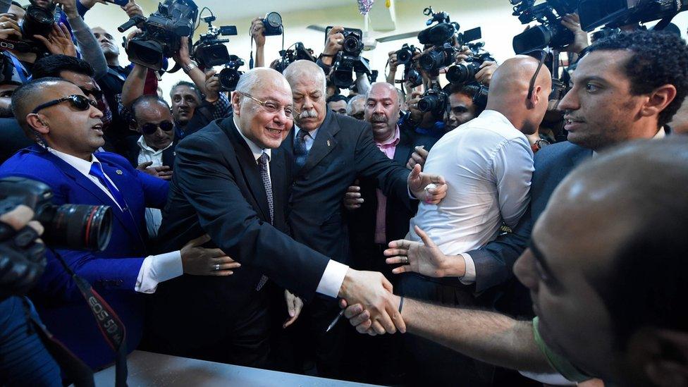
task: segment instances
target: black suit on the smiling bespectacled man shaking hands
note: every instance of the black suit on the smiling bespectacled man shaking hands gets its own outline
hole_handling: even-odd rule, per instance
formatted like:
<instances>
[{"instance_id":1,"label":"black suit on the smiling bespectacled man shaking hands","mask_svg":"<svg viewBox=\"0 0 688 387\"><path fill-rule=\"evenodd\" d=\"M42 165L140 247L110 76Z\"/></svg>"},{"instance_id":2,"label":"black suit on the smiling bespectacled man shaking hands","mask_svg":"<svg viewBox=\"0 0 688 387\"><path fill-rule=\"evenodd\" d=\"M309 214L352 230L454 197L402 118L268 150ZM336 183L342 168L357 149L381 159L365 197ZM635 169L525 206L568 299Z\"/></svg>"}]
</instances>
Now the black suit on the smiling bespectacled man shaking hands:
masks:
<instances>
[{"instance_id":1,"label":"black suit on the smiling bespectacled man shaking hands","mask_svg":"<svg viewBox=\"0 0 688 387\"><path fill-rule=\"evenodd\" d=\"M156 350L264 365L267 323L262 274L312 298L328 258L291 239L284 206L290 164L273 149L274 226L259 167L232 118L182 140L159 231L159 250L173 251L207 233L242 263L228 277L189 276L159 285L147 333Z\"/></svg>"}]
</instances>

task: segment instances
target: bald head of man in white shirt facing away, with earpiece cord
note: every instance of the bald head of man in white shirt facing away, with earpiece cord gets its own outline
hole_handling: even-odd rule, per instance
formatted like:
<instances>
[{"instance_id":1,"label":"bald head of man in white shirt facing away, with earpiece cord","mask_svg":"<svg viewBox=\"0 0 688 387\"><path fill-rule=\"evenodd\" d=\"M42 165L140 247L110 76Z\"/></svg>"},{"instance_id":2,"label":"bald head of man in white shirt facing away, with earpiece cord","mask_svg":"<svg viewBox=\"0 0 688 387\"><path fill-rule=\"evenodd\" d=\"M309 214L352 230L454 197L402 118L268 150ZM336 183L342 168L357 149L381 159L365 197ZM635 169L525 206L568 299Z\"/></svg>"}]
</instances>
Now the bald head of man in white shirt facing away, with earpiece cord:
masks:
<instances>
[{"instance_id":1,"label":"bald head of man in white shirt facing away, with earpiece cord","mask_svg":"<svg viewBox=\"0 0 688 387\"><path fill-rule=\"evenodd\" d=\"M515 56L502 63L490 82L486 109L502 113L522 133L536 132L547 112L552 91L551 73L542 66L528 97L530 80L539 61L531 56Z\"/></svg>"}]
</instances>

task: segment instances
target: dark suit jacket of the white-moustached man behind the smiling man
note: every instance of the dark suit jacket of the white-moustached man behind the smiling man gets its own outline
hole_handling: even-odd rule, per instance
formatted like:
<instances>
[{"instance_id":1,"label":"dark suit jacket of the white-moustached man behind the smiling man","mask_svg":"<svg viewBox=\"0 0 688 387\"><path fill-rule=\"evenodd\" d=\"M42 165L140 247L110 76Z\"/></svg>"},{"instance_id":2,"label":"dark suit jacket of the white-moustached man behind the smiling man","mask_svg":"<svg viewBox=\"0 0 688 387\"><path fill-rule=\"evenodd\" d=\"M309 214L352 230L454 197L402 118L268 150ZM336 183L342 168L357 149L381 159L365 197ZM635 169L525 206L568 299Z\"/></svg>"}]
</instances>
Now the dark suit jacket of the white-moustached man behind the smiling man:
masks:
<instances>
[{"instance_id":1,"label":"dark suit jacket of the white-moustached man behind the smiling man","mask_svg":"<svg viewBox=\"0 0 688 387\"><path fill-rule=\"evenodd\" d=\"M294 130L281 148L293 158ZM293 161L292 161L293 162ZM370 178L411 209L409 171L375 145L369 123L327 111L306 164L292 184L288 221L294 238L331 259L350 263L343 198L356 178Z\"/></svg>"}]
</instances>

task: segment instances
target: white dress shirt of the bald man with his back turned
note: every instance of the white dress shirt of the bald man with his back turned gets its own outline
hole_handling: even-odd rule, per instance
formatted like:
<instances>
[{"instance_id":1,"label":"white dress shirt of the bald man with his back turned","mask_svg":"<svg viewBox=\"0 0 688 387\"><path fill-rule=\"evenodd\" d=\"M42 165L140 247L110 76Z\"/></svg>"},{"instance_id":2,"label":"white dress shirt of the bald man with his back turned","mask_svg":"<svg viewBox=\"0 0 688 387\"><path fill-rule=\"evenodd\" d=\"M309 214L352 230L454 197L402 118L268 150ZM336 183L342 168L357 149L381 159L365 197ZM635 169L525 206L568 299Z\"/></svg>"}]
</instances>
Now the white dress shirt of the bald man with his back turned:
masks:
<instances>
[{"instance_id":1,"label":"white dress shirt of the bald man with his back turned","mask_svg":"<svg viewBox=\"0 0 688 387\"><path fill-rule=\"evenodd\" d=\"M432 147L424 172L446 179L447 196L439 204L419 204L407 239L420 241L413 229L419 226L444 254L462 254L461 281L473 283L475 264L465 252L495 239L502 222L516 226L529 204L533 171L526 136L503 114L484 111Z\"/></svg>"}]
</instances>

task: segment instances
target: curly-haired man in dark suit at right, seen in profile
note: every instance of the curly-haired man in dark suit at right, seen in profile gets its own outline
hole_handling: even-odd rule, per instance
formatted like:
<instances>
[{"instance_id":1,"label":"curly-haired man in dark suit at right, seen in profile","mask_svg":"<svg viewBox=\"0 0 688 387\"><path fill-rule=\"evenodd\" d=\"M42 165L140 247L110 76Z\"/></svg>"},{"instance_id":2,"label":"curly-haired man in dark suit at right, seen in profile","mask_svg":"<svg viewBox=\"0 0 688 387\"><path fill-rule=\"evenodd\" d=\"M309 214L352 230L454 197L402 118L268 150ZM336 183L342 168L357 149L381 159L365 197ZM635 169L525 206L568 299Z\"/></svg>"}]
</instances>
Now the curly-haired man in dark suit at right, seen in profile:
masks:
<instances>
[{"instance_id":1,"label":"curly-haired man in dark suit at right, seen in profile","mask_svg":"<svg viewBox=\"0 0 688 387\"><path fill-rule=\"evenodd\" d=\"M532 313L529 297L516 281L510 284L515 288L495 287L512 280L513 264L526 249L533 224L550 201L552 192L594 152L627 140L668 135L666 123L688 93L687 66L686 44L672 34L622 33L588 47L572 75L572 90L559 104L559 109L566 112L569 141L537 152L530 208L512 233L465 253L475 264L476 293L493 288L498 290L496 306L500 309L513 314ZM387 255L408 254L410 263L395 272L452 277L455 264L463 261L461 254L446 256L433 243L424 246L395 241L392 244L395 248L387 250ZM393 257L387 262L398 264L403 260Z\"/></svg>"}]
</instances>

